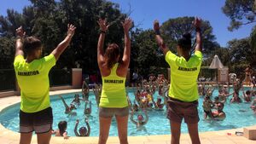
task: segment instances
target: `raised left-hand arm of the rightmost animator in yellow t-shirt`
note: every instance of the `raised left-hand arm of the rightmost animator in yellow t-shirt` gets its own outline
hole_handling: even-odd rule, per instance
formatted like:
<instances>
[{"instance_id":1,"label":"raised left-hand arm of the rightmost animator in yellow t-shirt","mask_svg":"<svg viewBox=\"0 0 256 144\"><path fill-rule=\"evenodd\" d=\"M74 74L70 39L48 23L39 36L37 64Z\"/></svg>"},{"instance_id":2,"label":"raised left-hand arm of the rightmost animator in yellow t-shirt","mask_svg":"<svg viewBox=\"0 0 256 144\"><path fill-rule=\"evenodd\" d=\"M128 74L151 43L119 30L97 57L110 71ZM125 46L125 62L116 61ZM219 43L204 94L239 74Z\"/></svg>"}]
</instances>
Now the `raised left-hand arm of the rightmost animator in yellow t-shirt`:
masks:
<instances>
[{"instance_id":1,"label":"raised left-hand arm of the rightmost animator in yellow t-shirt","mask_svg":"<svg viewBox=\"0 0 256 144\"><path fill-rule=\"evenodd\" d=\"M158 44L164 55L166 55L169 49L166 47L163 38L160 36L160 24L158 20L154 20L154 32L156 43Z\"/></svg>"}]
</instances>

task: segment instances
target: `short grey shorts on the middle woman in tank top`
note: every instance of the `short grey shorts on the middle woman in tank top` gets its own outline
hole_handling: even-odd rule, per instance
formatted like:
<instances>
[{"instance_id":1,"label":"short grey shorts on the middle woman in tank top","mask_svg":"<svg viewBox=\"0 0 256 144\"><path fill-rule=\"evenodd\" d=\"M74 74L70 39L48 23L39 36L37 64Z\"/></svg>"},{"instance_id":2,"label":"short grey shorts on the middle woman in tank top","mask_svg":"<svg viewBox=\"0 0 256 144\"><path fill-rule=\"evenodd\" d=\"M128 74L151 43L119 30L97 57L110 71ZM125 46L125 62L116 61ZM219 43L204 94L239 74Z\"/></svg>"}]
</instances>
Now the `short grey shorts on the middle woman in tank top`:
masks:
<instances>
[{"instance_id":1,"label":"short grey shorts on the middle woman in tank top","mask_svg":"<svg viewBox=\"0 0 256 144\"><path fill-rule=\"evenodd\" d=\"M99 116L102 118L112 118L113 116L125 117L129 115L129 107L109 108L100 107Z\"/></svg>"}]
</instances>

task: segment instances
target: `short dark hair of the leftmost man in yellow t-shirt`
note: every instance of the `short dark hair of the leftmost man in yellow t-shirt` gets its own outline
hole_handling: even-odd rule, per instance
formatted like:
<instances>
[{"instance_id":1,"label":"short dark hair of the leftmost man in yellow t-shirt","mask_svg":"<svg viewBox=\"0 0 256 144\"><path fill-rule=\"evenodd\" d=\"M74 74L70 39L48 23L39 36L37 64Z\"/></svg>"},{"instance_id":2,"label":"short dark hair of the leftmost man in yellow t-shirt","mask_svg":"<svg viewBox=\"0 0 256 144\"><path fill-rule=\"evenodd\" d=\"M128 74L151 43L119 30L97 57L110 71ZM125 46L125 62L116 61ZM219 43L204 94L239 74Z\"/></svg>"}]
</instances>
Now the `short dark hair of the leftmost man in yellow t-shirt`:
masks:
<instances>
[{"instance_id":1,"label":"short dark hair of the leftmost man in yellow t-shirt","mask_svg":"<svg viewBox=\"0 0 256 144\"><path fill-rule=\"evenodd\" d=\"M42 47L42 42L37 37L26 37L23 43L23 50L26 55L31 55L35 49Z\"/></svg>"}]
</instances>

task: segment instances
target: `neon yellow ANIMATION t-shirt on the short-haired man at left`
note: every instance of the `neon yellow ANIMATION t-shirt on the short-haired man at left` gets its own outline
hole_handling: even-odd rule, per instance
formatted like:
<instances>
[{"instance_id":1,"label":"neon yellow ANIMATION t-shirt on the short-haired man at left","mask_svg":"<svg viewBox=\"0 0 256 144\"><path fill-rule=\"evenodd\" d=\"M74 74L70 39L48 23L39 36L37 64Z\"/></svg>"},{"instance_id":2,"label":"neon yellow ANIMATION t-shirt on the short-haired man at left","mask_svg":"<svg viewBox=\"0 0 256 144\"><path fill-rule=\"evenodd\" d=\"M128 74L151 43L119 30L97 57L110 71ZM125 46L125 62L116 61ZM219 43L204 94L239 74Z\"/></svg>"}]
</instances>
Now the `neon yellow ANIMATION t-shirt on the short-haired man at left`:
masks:
<instances>
[{"instance_id":1,"label":"neon yellow ANIMATION t-shirt on the short-haired man at left","mask_svg":"<svg viewBox=\"0 0 256 144\"><path fill-rule=\"evenodd\" d=\"M26 63L22 55L17 55L14 66L20 86L20 110L39 112L50 107L48 74L51 67L55 66L55 56L48 55Z\"/></svg>"}]
</instances>

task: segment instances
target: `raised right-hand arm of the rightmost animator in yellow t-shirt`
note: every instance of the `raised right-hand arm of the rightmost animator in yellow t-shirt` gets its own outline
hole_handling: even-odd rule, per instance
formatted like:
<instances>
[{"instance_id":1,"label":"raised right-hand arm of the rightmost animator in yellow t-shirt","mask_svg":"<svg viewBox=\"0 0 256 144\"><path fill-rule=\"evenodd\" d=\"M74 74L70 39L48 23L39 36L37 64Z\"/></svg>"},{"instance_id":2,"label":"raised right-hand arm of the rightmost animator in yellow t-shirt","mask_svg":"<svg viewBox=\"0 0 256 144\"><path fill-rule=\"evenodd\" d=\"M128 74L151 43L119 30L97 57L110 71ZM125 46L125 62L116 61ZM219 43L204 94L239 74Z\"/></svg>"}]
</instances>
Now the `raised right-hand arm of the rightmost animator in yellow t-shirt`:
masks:
<instances>
[{"instance_id":1,"label":"raised right-hand arm of the rightmost animator in yellow t-shirt","mask_svg":"<svg viewBox=\"0 0 256 144\"><path fill-rule=\"evenodd\" d=\"M195 51L202 51L201 19L198 17L195 17L194 25L195 25L195 31L196 31Z\"/></svg>"}]
</instances>

